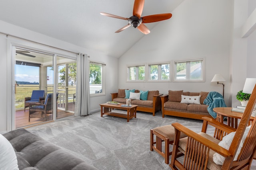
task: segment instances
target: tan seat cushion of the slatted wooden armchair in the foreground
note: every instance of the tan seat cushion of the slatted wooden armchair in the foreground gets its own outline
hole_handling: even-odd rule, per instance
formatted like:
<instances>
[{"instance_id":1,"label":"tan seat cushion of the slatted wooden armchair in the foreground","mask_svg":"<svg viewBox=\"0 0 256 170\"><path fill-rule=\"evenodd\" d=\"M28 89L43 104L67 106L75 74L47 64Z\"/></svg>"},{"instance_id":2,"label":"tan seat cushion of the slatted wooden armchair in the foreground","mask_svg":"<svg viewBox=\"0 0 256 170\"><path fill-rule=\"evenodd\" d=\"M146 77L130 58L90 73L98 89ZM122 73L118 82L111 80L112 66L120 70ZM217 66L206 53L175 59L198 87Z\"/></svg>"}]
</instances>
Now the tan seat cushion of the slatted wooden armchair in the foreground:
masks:
<instances>
[{"instance_id":1,"label":"tan seat cushion of the slatted wooden armchair in the foreground","mask_svg":"<svg viewBox=\"0 0 256 170\"><path fill-rule=\"evenodd\" d=\"M218 144L220 141L206 133L203 133L203 132L200 132L198 133L199 135L205 137L206 139L209 139L210 141ZM179 150L181 152L184 153L184 150L186 150L186 144L187 144L187 140L188 140L188 137L184 137L182 139L180 139L180 143L179 143ZM213 150L210 150L210 153L209 153L209 159L208 159L208 164L207 164L207 168L210 169L210 170L220 170L221 169L221 165L217 165L213 162L213 154L215 152Z\"/></svg>"}]
</instances>

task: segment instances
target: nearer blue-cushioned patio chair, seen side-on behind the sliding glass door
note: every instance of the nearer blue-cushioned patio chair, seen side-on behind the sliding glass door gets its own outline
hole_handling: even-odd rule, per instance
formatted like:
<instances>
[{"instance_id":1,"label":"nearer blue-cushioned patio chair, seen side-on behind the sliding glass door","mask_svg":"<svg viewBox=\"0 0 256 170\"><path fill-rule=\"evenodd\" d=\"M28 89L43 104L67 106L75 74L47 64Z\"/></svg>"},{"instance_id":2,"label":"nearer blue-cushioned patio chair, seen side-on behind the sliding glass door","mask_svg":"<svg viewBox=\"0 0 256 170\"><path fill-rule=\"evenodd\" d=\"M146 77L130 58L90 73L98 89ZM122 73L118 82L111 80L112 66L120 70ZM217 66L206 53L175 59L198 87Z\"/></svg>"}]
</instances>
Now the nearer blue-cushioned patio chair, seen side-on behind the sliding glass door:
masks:
<instances>
[{"instance_id":1,"label":"nearer blue-cushioned patio chair, seen side-on behind the sliding glass door","mask_svg":"<svg viewBox=\"0 0 256 170\"><path fill-rule=\"evenodd\" d=\"M56 101L58 100L58 93L56 94ZM46 121L46 114L52 114L53 110L53 102L52 102L52 93L47 94L45 101L43 104L41 103L29 103L29 115L28 115L28 121L30 121L30 118L34 118L34 113L41 112L41 117L44 114L44 118ZM32 117L31 117L32 116ZM40 117L37 117L40 118Z\"/></svg>"}]
</instances>

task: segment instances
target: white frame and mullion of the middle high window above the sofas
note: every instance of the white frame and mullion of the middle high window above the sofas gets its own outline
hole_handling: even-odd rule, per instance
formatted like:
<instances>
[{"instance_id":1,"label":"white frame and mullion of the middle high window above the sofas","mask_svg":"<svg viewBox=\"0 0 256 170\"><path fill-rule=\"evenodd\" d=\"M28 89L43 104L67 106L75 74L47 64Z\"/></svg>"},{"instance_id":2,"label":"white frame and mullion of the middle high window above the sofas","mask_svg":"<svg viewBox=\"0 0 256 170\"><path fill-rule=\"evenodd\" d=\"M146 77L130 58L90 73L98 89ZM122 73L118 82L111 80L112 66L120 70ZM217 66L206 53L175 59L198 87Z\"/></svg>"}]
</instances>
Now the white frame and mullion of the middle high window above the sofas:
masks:
<instances>
[{"instance_id":1,"label":"white frame and mullion of the middle high window above the sofas","mask_svg":"<svg viewBox=\"0 0 256 170\"><path fill-rule=\"evenodd\" d=\"M168 80L162 80L162 65L169 64L169 79ZM158 79L157 80L151 80L151 69L150 67L153 65L158 65ZM148 63L148 82L170 82L172 80L172 74L171 74L171 62L170 61L164 61L164 62L158 62L158 63ZM160 79L159 79L160 78Z\"/></svg>"}]
</instances>

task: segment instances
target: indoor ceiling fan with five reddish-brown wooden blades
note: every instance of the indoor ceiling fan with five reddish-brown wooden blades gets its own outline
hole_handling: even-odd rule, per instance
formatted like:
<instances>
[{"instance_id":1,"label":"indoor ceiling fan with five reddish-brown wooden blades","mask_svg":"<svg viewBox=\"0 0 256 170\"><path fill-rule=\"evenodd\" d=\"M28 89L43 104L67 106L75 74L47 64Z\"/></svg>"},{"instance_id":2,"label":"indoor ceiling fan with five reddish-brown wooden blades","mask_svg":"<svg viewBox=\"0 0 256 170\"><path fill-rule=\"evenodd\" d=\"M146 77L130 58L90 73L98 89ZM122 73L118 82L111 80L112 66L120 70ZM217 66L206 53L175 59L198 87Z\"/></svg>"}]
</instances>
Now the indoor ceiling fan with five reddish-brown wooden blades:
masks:
<instances>
[{"instance_id":1,"label":"indoor ceiling fan with five reddish-brown wooden blades","mask_svg":"<svg viewBox=\"0 0 256 170\"><path fill-rule=\"evenodd\" d=\"M168 20L172 17L172 14L170 14L170 13L155 14L155 15L141 17L144 2L145 2L145 0L135 0L134 1L133 13L130 18L124 18L124 17L113 15L113 14L108 14L105 12L100 12L100 14L104 15L104 16L112 17L112 18L128 20L129 23L127 25L125 25L124 27L118 29L115 33L119 33L132 25L132 27L138 28L138 30L140 30L142 33L148 34L148 33L150 33L150 30L148 29L148 27L146 27L146 25L144 23Z\"/></svg>"}]
</instances>

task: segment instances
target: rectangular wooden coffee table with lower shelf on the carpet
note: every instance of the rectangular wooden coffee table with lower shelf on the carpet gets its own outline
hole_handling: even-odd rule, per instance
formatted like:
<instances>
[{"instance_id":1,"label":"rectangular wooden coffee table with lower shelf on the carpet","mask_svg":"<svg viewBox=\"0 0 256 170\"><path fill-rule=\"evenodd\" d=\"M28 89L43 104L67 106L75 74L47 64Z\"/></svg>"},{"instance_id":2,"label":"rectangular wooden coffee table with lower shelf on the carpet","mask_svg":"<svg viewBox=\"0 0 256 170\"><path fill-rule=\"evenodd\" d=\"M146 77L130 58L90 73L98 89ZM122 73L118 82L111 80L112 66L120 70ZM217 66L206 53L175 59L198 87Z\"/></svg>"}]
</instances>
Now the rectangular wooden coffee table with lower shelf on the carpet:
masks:
<instances>
[{"instance_id":1,"label":"rectangular wooden coffee table with lower shelf on the carpet","mask_svg":"<svg viewBox=\"0 0 256 170\"><path fill-rule=\"evenodd\" d=\"M116 116L116 117L123 117L127 119L127 122L129 122L130 119L133 117L136 118L136 111L137 111L137 106L132 104L131 107L122 107L122 104L114 105L114 104L100 104L100 109L101 109L101 117L103 115L110 115L110 116ZM120 110L127 110L127 115L122 114L122 113L115 113L112 112L113 109L120 109Z\"/></svg>"}]
</instances>

